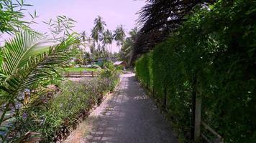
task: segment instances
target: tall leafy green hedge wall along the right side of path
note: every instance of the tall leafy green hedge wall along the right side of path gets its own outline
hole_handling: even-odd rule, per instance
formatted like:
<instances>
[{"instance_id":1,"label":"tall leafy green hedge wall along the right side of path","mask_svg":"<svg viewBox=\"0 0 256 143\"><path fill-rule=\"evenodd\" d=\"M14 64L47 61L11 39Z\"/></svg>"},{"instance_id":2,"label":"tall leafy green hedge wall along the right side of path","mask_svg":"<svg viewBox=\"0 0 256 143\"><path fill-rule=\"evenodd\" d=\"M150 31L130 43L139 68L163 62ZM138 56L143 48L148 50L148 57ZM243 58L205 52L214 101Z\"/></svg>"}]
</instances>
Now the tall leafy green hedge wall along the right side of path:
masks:
<instances>
[{"instance_id":1,"label":"tall leafy green hedge wall along the right side of path","mask_svg":"<svg viewBox=\"0 0 256 143\"><path fill-rule=\"evenodd\" d=\"M191 97L200 89L202 119L224 142L256 142L255 1L219 1L209 9L196 8L141 56L137 77L154 91L180 139L188 136Z\"/></svg>"}]
</instances>

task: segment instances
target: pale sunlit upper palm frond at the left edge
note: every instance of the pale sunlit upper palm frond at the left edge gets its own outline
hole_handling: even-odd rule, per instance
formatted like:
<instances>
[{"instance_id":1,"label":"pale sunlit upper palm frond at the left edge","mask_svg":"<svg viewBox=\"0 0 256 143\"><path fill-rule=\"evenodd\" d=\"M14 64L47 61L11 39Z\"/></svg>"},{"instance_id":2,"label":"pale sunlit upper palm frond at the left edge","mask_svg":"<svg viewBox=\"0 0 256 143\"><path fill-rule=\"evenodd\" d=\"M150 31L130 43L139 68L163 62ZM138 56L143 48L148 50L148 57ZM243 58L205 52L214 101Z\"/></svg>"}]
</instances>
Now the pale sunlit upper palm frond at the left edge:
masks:
<instances>
[{"instance_id":1,"label":"pale sunlit upper palm frond at the left edge","mask_svg":"<svg viewBox=\"0 0 256 143\"><path fill-rule=\"evenodd\" d=\"M30 57L49 50L50 46L44 45L47 41L42 41L44 38L40 33L25 30L7 41L3 49L3 63L1 64L4 74L14 74L17 69L27 64Z\"/></svg>"}]
</instances>

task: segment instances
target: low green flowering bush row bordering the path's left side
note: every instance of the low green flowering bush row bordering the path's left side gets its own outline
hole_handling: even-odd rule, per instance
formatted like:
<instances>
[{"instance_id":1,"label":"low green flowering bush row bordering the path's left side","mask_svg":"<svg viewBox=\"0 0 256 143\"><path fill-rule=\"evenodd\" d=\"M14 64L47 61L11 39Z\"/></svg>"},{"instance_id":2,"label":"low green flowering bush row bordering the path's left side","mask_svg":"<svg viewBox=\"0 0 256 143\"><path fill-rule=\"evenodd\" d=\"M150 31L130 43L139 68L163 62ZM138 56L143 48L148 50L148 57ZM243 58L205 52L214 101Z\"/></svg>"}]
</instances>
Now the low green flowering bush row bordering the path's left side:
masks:
<instances>
[{"instance_id":1,"label":"low green flowering bush row bordering the path's left side","mask_svg":"<svg viewBox=\"0 0 256 143\"><path fill-rule=\"evenodd\" d=\"M70 128L78 124L79 117L86 117L93 105L99 105L104 94L114 89L118 73L106 72L103 71L99 78L63 82L60 93L50 99L43 93L29 103L19 115L17 129L20 134L36 132L39 135L35 137L42 137L44 142L61 139L61 134L67 136Z\"/></svg>"}]
</instances>

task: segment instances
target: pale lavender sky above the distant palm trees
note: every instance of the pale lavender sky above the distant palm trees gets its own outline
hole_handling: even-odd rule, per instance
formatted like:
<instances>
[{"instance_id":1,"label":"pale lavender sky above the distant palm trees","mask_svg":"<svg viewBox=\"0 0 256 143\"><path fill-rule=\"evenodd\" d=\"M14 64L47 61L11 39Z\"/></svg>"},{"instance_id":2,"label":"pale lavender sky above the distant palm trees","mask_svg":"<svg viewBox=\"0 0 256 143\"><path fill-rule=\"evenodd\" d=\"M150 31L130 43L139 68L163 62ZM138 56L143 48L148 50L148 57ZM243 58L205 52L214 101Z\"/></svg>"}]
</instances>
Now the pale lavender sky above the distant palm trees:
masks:
<instances>
[{"instance_id":1,"label":"pale lavender sky above the distant palm trees","mask_svg":"<svg viewBox=\"0 0 256 143\"><path fill-rule=\"evenodd\" d=\"M91 34L93 20L96 16L102 16L106 21L107 29L112 31L119 24L129 31L134 28L138 15L136 14L142 6L145 5L144 0L27 0L27 4L33 6L27 7L28 11L33 13L37 11L38 24L33 24L32 28L37 31L47 31L46 24L42 21L55 19L58 15L65 15L77 21L76 31L86 31ZM26 14L27 18L29 14ZM117 51L113 45L113 51Z\"/></svg>"}]
</instances>

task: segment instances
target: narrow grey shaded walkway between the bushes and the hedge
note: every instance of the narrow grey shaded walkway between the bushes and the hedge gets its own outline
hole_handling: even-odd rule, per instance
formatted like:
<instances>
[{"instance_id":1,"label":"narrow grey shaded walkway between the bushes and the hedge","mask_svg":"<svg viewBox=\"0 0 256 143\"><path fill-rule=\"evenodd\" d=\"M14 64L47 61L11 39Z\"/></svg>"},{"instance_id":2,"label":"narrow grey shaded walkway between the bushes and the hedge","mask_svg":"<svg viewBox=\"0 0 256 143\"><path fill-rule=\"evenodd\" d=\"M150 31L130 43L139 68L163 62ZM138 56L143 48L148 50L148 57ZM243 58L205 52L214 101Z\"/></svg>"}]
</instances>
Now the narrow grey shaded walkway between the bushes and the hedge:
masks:
<instances>
[{"instance_id":1,"label":"narrow grey shaded walkway between the bushes and the hedge","mask_svg":"<svg viewBox=\"0 0 256 143\"><path fill-rule=\"evenodd\" d=\"M134 74L124 74L116 92L97 107L65 142L176 143L163 115Z\"/></svg>"}]
</instances>

